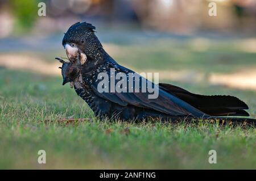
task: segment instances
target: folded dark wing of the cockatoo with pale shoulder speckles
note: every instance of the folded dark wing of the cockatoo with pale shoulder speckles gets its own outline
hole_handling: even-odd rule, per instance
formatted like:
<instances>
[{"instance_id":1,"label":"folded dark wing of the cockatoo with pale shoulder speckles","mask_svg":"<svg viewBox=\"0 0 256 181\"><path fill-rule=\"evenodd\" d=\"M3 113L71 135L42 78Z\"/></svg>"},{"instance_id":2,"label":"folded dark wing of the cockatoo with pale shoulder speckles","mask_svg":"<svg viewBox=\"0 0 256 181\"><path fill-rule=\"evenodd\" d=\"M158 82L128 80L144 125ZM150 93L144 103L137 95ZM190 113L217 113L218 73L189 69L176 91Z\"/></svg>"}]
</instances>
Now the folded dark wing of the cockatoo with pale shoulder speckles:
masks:
<instances>
[{"instance_id":1,"label":"folded dark wing of the cockatoo with pale shoulder speckles","mask_svg":"<svg viewBox=\"0 0 256 181\"><path fill-rule=\"evenodd\" d=\"M95 94L100 96L101 98L104 98L106 100L109 100L111 102L117 103L120 106L127 106L128 104L142 107L142 108L148 108L151 110L159 111L162 113L166 113L171 116L186 116L191 115L195 117L203 117L208 116L204 112L201 112L200 110L197 110L197 108L189 105L187 102L184 102L183 100L177 98L175 95L172 95L168 93L167 91L164 91L163 89L159 89L157 85L154 85L154 83L151 83L147 79L144 79L140 77L139 79L139 88L142 87L143 81L146 81L146 85L151 85L151 88L154 87L154 94L157 94L158 96L156 98L151 98L152 95L154 95L152 92L146 90L146 92L142 92L141 90L139 92L136 92L136 87L133 87L132 92L111 92L111 82L113 82L113 71L110 70L110 68L115 69L114 75L117 75L118 73L123 73L127 77L126 82L127 85L129 85L129 73L134 73L134 71L131 71L129 69L124 68L123 66L119 66L115 62L109 62L108 65L104 65L103 67L99 68L97 71L104 70L105 75L104 81L99 80L100 74L97 74L97 71L94 72L91 76L92 81L90 81L89 86L92 87ZM102 70L100 70L102 69ZM138 74L137 74L138 75ZM108 78L106 80L106 78ZM87 82L86 80L84 80ZM114 88L117 86L117 83L120 81L114 79ZM138 79L137 79L138 81ZM135 79L133 79L133 85L135 85ZM102 92L99 91L99 86L101 87L110 87L108 91ZM123 86L123 85L122 85ZM112 89L113 90L113 89ZM151 95L151 96L150 96Z\"/></svg>"}]
</instances>

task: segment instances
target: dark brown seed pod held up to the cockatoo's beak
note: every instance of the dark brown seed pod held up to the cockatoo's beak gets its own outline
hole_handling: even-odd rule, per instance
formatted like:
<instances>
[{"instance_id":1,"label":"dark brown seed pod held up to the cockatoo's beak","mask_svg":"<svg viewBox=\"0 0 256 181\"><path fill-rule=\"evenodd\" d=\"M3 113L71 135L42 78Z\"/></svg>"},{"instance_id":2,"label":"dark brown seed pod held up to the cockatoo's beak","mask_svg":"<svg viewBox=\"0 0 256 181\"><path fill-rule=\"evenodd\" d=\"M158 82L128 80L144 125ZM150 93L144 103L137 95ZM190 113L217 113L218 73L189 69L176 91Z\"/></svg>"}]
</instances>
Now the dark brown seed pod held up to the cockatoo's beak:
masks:
<instances>
[{"instance_id":1,"label":"dark brown seed pod held up to the cockatoo's beak","mask_svg":"<svg viewBox=\"0 0 256 181\"><path fill-rule=\"evenodd\" d=\"M61 75L63 78L62 85L65 85L68 82L73 82L75 78L77 78L80 74L80 69L77 68L76 65L72 64L71 62L65 62L60 58L56 58L62 63L62 66L59 67L61 69Z\"/></svg>"}]
</instances>

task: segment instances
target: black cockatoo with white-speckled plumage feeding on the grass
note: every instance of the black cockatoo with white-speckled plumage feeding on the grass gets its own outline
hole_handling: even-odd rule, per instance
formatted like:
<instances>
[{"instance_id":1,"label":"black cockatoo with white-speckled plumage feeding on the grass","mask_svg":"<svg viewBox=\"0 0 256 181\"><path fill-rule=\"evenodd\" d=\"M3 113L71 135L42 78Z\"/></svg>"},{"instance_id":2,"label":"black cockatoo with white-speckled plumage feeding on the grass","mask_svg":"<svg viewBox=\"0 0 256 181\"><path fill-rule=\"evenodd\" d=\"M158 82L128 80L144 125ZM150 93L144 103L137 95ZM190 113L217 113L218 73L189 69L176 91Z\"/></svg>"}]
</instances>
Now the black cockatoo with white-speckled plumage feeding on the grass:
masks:
<instances>
[{"instance_id":1,"label":"black cockatoo with white-speckled plumage feeding on the grass","mask_svg":"<svg viewBox=\"0 0 256 181\"><path fill-rule=\"evenodd\" d=\"M192 94L167 83L159 83L159 85L152 83L152 86L158 89L158 97L154 99L148 98L150 95L148 91L98 91L100 73L109 75L108 82L111 83L111 69L116 73L124 73L127 77L134 71L117 64L105 52L94 30L95 27L86 22L73 24L65 33L62 42L69 62L59 60L63 63L63 85L71 82L77 95L88 103L96 116L122 120L142 120L148 117L166 120L184 119L184 117L188 119L249 116L245 111L248 106L234 96ZM129 79L126 81L128 83ZM130 81L135 83L135 79ZM142 83L140 82L139 85L141 88ZM114 86L117 86L117 81L114 81Z\"/></svg>"}]
</instances>

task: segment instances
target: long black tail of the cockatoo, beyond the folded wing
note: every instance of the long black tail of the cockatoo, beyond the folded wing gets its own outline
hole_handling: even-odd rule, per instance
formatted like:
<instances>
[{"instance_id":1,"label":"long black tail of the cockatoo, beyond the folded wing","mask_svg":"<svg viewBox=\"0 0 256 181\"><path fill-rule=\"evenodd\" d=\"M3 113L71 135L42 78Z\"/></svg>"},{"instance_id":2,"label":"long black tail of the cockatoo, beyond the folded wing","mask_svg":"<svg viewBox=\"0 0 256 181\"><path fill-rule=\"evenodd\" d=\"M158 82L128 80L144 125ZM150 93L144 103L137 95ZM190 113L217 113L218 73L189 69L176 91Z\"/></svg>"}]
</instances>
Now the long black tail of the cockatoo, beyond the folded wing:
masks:
<instances>
[{"instance_id":1,"label":"long black tail of the cockatoo, beyond the folded wing","mask_svg":"<svg viewBox=\"0 0 256 181\"><path fill-rule=\"evenodd\" d=\"M234 96L193 94L167 83L159 83L159 87L210 116L249 116L248 106Z\"/></svg>"}]
</instances>

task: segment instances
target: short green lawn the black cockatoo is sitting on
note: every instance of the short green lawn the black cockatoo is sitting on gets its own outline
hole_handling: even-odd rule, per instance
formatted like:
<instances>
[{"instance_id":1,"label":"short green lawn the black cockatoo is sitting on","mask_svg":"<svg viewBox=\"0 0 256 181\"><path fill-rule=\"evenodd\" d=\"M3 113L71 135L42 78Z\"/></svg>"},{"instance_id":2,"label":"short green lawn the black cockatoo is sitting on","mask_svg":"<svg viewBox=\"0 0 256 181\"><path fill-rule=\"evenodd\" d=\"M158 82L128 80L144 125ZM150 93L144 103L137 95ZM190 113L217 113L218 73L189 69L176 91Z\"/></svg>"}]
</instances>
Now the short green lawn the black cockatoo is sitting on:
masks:
<instances>
[{"instance_id":1,"label":"short green lawn the black cockatoo is sitting on","mask_svg":"<svg viewBox=\"0 0 256 181\"><path fill-rule=\"evenodd\" d=\"M133 53L114 57L138 69L146 65L145 69L177 70L184 65L196 71L224 72L256 66L255 53L239 52L228 45L222 45L226 51L219 53L213 47L205 52L188 50L187 54L179 44L169 52L160 45L151 50L137 46L120 45L121 50ZM168 62L169 56L176 61ZM213 64L211 60L216 58L219 62ZM60 77L0 68L0 169L256 169L255 128L100 121L75 90L61 82ZM200 94L235 95L249 105L251 117L256 118L255 91L167 82ZM90 119L73 124L60 121L69 117ZM208 162L212 149L217 151L216 164ZM46 164L38 163L38 150L46 150Z\"/></svg>"}]
</instances>

